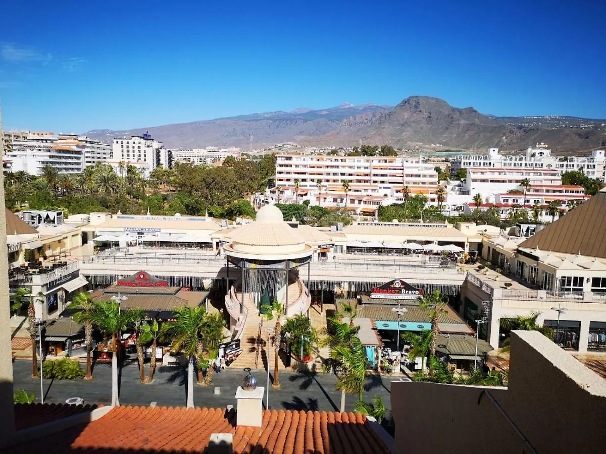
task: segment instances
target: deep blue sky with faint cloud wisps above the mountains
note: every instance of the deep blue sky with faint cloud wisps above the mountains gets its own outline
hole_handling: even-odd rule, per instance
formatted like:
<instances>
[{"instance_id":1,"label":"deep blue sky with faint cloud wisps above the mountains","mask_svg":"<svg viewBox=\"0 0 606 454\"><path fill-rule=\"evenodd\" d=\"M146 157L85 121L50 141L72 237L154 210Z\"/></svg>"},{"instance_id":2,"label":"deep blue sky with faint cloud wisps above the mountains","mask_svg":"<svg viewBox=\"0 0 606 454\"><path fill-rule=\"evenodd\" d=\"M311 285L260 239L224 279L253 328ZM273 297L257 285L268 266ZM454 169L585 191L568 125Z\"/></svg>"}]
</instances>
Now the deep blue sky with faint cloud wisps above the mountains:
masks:
<instances>
[{"instance_id":1,"label":"deep blue sky with faint cloud wisps above the mountains","mask_svg":"<svg viewBox=\"0 0 606 454\"><path fill-rule=\"evenodd\" d=\"M415 94L604 119L606 2L561 3L5 0L4 128L80 133Z\"/></svg>"}]
</instances>

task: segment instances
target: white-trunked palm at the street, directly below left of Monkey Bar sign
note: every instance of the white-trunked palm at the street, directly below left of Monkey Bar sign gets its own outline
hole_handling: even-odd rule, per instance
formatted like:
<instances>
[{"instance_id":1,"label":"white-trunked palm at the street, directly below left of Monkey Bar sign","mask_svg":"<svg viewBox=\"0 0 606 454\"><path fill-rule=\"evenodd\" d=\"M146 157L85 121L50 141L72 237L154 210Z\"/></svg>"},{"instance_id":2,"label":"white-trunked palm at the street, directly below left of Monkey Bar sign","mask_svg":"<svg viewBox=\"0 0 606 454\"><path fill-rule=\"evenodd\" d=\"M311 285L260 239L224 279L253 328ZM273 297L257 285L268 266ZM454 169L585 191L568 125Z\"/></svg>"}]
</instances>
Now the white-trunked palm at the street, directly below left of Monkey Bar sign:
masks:
<instances>
[{"instance_id":1,"label":"white-trunked palm at the street, directly below left of Monkey Bar sign","mask_svg":"<svg viewBox=\"0 0 606 454\"><path fill-rule=\"evenodd\" d=\"M140 311L122 312L119 304L114 301L98 301L90 314L81 317L81 321L90 321L93 326L104 333L105 337L112 340L112 407L120 405L118 398L119 334L127 326L132 326L140 315Z\"/></svg>"}]
</instances>

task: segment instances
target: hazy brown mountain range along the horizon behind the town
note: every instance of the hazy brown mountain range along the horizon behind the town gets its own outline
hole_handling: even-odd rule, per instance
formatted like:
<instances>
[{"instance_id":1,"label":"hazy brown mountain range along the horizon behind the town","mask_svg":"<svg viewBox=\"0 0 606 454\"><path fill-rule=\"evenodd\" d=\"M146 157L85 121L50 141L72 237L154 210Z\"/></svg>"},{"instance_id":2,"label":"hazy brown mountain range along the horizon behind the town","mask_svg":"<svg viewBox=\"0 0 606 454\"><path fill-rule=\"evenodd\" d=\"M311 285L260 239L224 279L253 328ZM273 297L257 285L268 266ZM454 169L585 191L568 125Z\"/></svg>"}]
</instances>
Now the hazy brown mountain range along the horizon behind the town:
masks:
<instances>
[{"instance_id":1,"label":"hazy brown mountain range along the horizon behind the town","mask_svg":"<svg viewBox=\"0 0 606 454\"><path fill-rule=\"evenodd\" d=\"M93 130L85 134L108 142L113 137L145 131L168 148L207 145L248 148L251 140L253 148L281 142L307 146L351 146L362 142L387 143L405 150L482 150L496 146L514 151L545 142L554 150L579 152L606 146L606 120L495 117L481 114L473 107L452 107L443 99L428 96L411 96L395 107L344 103L322 110L299 108L291 112L255 113L124 131Z\"/></svg>"}]
</instances>

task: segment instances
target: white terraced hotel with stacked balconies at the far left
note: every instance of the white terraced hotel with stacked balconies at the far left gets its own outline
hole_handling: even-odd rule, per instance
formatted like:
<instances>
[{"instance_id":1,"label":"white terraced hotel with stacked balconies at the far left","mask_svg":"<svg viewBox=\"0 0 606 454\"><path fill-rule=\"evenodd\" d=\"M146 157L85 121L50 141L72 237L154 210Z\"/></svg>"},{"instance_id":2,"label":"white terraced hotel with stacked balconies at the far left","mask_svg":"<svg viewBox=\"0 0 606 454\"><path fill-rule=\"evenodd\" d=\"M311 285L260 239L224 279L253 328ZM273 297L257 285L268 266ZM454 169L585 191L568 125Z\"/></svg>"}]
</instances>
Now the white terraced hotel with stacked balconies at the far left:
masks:
<instances>
[{"instance_id":1,"label":"white terraced hotel with stacked balconies at the far left","mask_svg":"<svg viewBox=\"0 0 606 454\"><path fill-rule=\"evenodd\" d=\"M52 165L59 173L75 174L84 169L85 146L77 136L28 136L13 140L5 156L11 161L13 172L25 171L38 175L45 165Z\"/></svg>"}]
</instances>

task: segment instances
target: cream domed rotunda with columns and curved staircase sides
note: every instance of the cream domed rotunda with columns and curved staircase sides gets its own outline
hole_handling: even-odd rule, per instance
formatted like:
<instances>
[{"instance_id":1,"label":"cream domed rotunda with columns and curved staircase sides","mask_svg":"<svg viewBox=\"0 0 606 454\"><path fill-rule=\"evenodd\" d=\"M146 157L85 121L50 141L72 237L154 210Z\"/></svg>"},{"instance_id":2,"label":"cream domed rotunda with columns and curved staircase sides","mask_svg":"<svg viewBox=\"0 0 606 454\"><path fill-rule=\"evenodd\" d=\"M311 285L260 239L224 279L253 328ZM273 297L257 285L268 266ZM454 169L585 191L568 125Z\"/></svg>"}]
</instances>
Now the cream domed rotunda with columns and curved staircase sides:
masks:
<instances>
[{"instance_id":1,"label":"cream domed rotunda with columns and curved staircase sides","mask_svg":"<svg viewBox=\"0 0 606 454\"><path fill-rule=\"evenodd\" d=\"M255 221L233 231L230 239L223 247L228 281L235 280L225 295L231 331L256 322L264 292L284 304L286 315L307 312L311 296L299 268L307 265L309 280L313 247L284 222L276 206L263 206Z\"/></svg>"}]
</instances>

